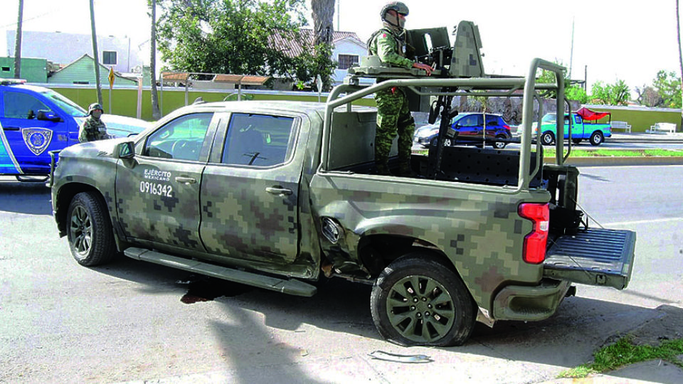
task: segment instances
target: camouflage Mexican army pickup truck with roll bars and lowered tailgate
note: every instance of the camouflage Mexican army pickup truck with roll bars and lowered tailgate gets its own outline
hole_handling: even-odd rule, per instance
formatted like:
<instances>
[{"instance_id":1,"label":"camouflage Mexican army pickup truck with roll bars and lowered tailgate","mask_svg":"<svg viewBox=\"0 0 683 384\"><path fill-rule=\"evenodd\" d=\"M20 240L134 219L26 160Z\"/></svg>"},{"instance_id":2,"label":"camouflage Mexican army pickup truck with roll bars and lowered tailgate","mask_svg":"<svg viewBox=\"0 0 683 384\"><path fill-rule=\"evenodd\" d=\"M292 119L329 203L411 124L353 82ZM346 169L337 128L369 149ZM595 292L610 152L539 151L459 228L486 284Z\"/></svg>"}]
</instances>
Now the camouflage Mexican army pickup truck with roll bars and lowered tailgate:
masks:
<instances>
[{"instance_id":1,"label":"camouflage Mexican army pickup truck with roll bars and lowered tailgate","mask_svg":"<svg viewBox=\"0 0 683 384\"><path fill-rule=\"evenodd\" d=\"M59 233L85 266L122 252L301 296L323 277L371 284L374 324L401 345L460 345L475 321L546 319L573 283L625 288L635 233L581 225L578 169L563 164L562 141L557 164L531 146L536 92L554 89L558 113L564 105L563 76L536 85L537 68L563 70L537 59L528 78L403 73L361 87L365 67L326 104L181 108L132 139L61 152ZM443 124L440 145L413 154L414 177L375 173L376 110L353 105L396 86L436 97ZM516 89L521 149L443 146L450 97Z\"/></svg>"}]
</instances>

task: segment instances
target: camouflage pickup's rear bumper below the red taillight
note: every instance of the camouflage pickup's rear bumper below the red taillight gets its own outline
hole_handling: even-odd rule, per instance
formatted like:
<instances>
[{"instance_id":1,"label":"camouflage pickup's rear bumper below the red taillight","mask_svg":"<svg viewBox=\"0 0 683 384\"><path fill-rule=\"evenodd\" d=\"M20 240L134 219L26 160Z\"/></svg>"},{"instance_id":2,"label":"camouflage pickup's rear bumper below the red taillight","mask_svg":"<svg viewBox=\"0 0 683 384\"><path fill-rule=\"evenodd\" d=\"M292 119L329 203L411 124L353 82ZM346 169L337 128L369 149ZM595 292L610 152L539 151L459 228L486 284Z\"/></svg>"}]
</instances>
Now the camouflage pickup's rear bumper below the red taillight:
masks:
<instances>
[{"instance_id":1,"label":"camouflage pickup's rear bumper below the red taillight","mask_svg":"<svg viewBox=\"0 0 683 384\"><path fill-rule=\"evenodd\" d=\"M542 279L534 287L510 285L493 302L495 320L537 321L552 316L571 287L566 280Z\"/></svg>"}]
</instances>

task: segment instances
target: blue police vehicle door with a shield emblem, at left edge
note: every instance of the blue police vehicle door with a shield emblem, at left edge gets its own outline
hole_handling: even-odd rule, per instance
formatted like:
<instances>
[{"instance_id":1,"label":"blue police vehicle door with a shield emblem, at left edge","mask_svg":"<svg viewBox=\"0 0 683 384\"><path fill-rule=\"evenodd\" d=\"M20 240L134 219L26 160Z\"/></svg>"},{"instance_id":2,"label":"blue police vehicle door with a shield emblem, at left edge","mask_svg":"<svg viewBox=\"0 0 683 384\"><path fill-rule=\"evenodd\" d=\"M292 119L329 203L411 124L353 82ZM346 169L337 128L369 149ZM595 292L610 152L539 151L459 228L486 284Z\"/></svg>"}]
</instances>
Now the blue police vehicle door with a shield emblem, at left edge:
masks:
<instances>
[{"instance_id":1,"label":"blue police vehicle door with a shield emblem, at left edge","mask_svg":"<svg viewBox=\"0 0 683 384\"><path fill-rule=\"evenodd\" d=\"M49 151L63 149L67 144L60 138L68 132L68 117L36 95L20 90L2 92L1 112L4 150L0 150L0 161L12 164L3 166L9 171L6 174L49 174Z\"/></svg>"}]
</instances>

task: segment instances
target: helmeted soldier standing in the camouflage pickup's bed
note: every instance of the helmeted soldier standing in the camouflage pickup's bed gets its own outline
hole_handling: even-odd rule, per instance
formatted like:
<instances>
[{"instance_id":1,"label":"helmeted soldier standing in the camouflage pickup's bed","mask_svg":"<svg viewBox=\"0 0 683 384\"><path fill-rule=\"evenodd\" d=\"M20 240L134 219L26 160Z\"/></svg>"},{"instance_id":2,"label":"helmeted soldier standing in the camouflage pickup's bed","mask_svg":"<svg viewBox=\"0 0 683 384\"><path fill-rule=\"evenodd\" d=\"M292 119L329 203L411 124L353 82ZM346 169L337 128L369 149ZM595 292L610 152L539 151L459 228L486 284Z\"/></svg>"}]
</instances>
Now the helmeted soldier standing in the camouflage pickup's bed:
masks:
<instances>
[{"instance_id":1,"label":"helmeted soldier standing in the camouflage pickup's bed","mask_svg":"<svg viewBox=\"0 0 683 384\"><path fill-rule=\"evenodd\" d=\"M380 16L383 27L372 34L368 41L370 55L377 55L384 65L401 68L420 68L430 75L429 65L415 63L405 57L406 31L403 26L408 16L408 6L401 1L392 1L383 6ZM377 103L377 130L375 135L375 164L378 174L388 175L388 158L391 142L398 134L399 174L408 176L411 172L411 146L415 120L408 110L406 92L398 87L382 90L375 94Z\"/></svg>"}]
</instances>

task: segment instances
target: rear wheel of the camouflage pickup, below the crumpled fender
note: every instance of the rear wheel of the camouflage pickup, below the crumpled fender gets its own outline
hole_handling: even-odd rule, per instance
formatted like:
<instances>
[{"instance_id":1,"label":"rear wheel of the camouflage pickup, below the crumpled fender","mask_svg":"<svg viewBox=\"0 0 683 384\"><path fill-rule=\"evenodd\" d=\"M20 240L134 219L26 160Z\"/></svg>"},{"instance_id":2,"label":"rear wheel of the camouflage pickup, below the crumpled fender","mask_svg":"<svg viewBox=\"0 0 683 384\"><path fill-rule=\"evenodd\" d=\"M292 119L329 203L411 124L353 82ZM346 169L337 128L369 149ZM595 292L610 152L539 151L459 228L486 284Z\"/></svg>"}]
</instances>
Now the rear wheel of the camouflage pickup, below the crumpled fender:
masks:
<instances>
[{"instance_id":1,"label":"rear wheel of the camouflage pickup, below the crumpled fender","mask_svg":"<svg viewBox=\"0 0 683 384\"><path fill-rule=\"evenodd\" d=\"M457 273L415 252L391 262L372 287L372 320L401 346L459 346L475 326L475 303Z\"/></svg>"}]
</instances>

